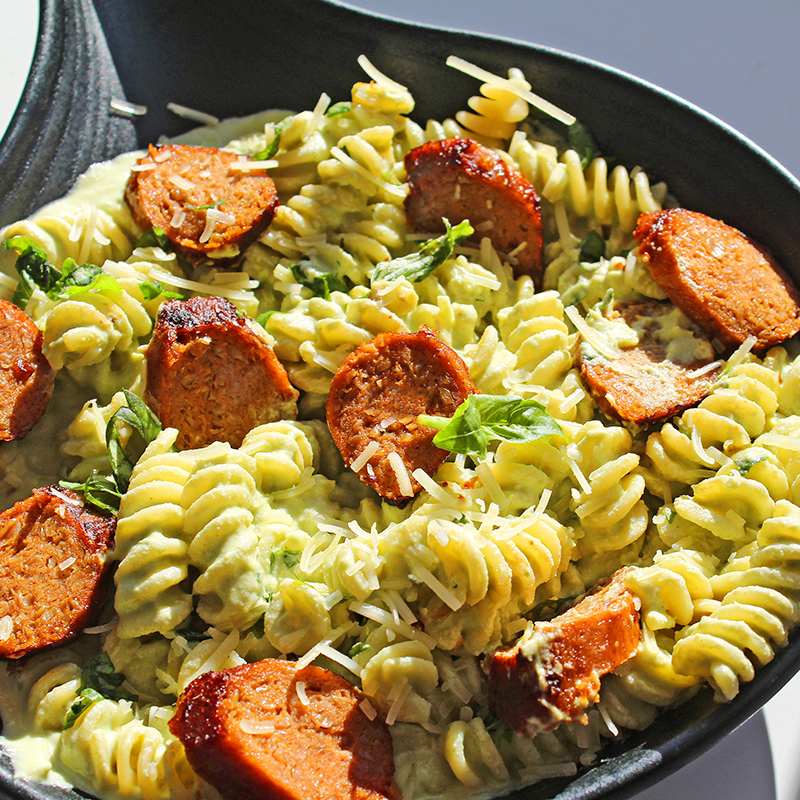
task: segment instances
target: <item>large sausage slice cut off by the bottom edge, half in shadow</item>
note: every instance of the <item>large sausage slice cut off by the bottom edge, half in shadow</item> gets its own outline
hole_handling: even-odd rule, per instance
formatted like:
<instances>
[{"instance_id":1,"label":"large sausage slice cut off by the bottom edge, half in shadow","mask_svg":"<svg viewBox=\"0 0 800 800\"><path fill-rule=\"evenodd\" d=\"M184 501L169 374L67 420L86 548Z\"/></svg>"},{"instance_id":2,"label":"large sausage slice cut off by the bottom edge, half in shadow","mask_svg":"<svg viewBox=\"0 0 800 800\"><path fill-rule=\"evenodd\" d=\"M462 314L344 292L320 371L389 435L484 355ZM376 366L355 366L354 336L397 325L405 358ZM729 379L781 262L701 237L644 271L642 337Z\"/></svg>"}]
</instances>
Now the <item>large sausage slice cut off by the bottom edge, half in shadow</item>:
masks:
<instances>
[{"instance_id":1,"label":"large sausage slice cut off by the bottom edge, half in shadow","mask_svg":"<svg viewBox=\"0 0 800 800\"><path fill-rule=\"evenodd\" d=\"M363 700L328 670L267 659L196 678L169 727L230 800L399 800L391 736Z\"/></svg>"}]
</instances>

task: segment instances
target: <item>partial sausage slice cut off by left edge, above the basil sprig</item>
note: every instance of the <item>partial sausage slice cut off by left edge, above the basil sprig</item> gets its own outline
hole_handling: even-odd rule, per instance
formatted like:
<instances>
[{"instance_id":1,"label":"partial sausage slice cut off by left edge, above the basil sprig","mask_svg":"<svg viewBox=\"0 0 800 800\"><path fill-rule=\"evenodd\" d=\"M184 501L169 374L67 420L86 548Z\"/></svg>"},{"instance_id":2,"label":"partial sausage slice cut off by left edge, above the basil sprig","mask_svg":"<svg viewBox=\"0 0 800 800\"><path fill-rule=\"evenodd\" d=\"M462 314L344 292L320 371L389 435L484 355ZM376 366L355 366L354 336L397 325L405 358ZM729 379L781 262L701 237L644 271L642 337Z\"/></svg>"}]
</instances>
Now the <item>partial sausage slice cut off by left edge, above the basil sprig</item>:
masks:
<instances>
[{"instance_id":1,"label":"partial sausage slice cut off by left edge, above the basil sprig","mask_svg":"<svg viewBox=\"0 0 800 800\"><path fill-rule=\"evenodd\" d=\"M54 378L36 323L0 300L0 440L21 439L41 419Z\"/></svg>"}]
</instances>

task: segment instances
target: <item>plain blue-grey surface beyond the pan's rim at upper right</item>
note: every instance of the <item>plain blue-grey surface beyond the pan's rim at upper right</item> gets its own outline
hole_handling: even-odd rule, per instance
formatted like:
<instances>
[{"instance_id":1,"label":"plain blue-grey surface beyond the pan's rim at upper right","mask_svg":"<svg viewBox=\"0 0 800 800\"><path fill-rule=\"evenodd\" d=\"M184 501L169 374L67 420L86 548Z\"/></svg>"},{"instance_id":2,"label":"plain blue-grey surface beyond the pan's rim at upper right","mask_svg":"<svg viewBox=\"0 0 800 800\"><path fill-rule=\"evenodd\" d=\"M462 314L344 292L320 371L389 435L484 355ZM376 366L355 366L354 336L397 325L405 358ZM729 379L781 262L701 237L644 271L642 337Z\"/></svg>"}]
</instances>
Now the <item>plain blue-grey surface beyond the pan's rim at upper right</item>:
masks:
<instances>
[{"instance_id":1,"label":"plain blue-grey surface beyond the pan's rim at upper right","mask_svg":"<svg viewBox=\"0 0 800 800\"><path fill-rule=\"evenodd\" d=\"M520 39L609 64L695 103L800 175L797 0L405 0L402 4L348 0L347 4L401 19Z\"/></svg>"}]
</instances>

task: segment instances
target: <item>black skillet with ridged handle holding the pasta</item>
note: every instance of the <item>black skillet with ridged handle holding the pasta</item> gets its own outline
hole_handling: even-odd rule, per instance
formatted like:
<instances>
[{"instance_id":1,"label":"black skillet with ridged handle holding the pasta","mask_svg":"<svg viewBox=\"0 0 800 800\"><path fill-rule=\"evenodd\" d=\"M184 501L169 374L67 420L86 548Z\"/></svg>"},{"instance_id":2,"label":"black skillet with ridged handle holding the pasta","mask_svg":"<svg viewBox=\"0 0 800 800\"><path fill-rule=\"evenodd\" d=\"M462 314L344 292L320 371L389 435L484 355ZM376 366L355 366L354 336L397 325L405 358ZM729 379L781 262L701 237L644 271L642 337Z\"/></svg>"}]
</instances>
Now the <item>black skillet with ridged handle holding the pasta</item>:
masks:
<instances>
[{"instance_id":1,"label":"black skillet with ridged handle holding the pasta","mask_svg":"<svg viewBox=\"0 0 800 800\"><path fill-rule=\"evenodd\" d=\"M95 9L96 7L96 9ZM800 184L718 120L608 67L510 40L396 22L325 0L42 0L39 46L23 100L0 147L0 222L62 194L93 161L189 124L167 102L219 117L309 108L322 91L349 98L365 53L407 85L424 122L452 116L477 84L448 55L504 74L520 67L535 91L576 114L601 148L665 179L686 207L721 217L767 245L800 282ZM96 13L95 13L96 11ZM135 123L108 115L111 97L150 109ZM512 793L516 800L622 800L700 755L755 713L800 666L800 631L736 700L710 692L612 742L572 779ZM20 800L74 794L16 782L0 762L0 792Z\"/></svg>"}]
</instances>

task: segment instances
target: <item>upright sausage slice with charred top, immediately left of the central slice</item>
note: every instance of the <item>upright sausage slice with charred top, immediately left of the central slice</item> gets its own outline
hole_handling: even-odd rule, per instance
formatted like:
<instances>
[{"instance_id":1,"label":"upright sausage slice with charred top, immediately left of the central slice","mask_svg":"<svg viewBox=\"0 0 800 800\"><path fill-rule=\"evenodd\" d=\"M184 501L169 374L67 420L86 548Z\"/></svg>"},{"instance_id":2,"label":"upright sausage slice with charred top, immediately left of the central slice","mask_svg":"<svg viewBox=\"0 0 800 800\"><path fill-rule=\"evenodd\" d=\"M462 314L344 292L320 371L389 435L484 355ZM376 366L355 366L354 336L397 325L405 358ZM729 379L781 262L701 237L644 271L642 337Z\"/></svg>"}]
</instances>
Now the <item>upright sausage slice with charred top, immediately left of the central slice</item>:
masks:
<instances>
[{"instance_id":1,"label":"upright sausage slice with charred top, immediately left of the central slice","mask_svg":"<svg viewBox=\"0 0 800 800\"><path fill-rule=\"evenodd\" d=\"M298 391L272 348L221 297L170 300L147 348L145 399L178 447L242 443L266 422L297 417Z\"/></svg>"}]
</instances>

